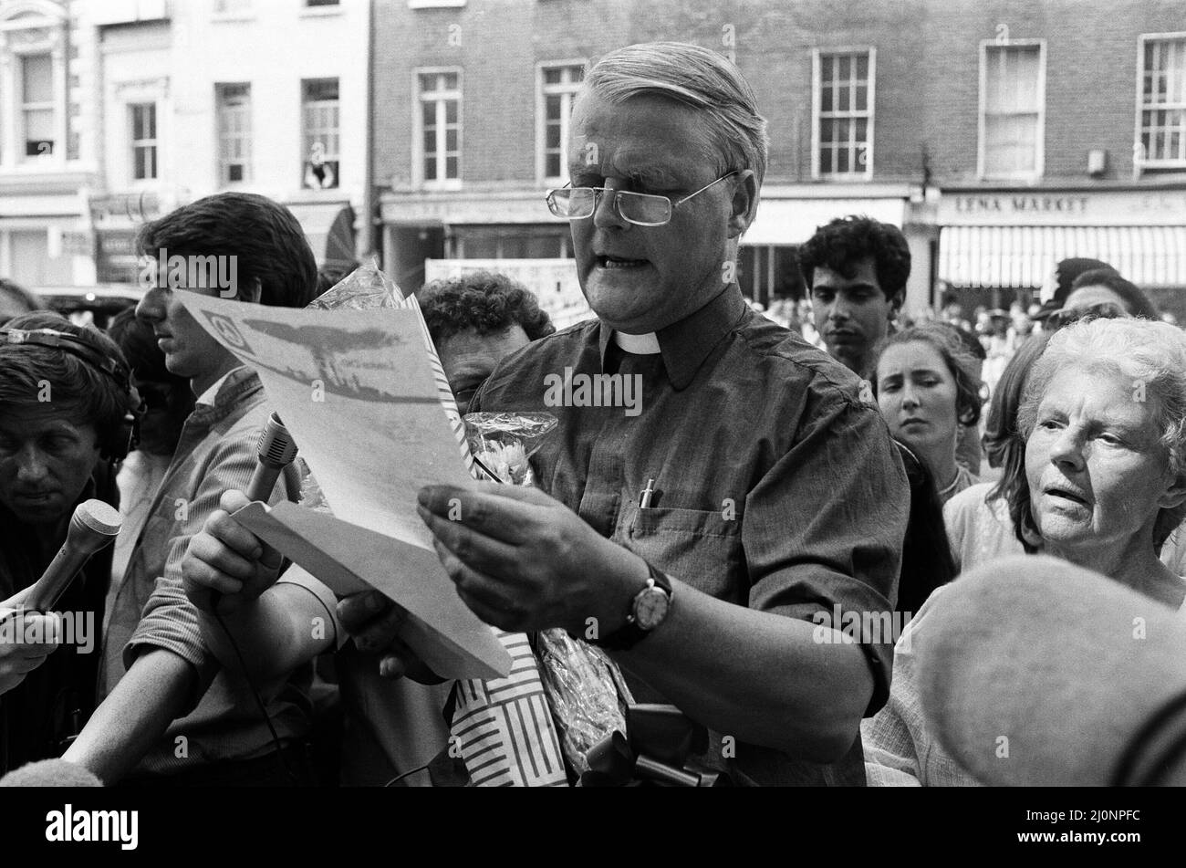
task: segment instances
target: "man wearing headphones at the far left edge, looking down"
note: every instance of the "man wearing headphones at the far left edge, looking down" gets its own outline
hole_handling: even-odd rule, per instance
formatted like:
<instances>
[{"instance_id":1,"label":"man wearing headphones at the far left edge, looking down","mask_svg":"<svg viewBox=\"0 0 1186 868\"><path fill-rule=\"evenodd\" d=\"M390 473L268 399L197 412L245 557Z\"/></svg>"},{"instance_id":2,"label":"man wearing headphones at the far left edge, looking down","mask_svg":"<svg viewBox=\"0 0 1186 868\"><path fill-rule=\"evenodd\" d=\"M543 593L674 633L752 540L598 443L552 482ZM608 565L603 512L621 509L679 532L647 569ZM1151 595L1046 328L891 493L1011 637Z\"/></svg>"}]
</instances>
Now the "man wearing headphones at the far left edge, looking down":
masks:
<instances>
[{"instance_id":1,"label":"man wearing headphones at the far left edge, looking down","mask_svg":"<svg viewBox=\"0 0 1186 868\"><path fill-rule=\"evenodd\" d=\"M113 464L132 439L140 400L119 347L56 313L0 330L0 773L58 755L94 707L98 631L110 575L101 550L56 608L23 611L62 547L75 506L117 505Z\"/></svg>"}]
</instances>

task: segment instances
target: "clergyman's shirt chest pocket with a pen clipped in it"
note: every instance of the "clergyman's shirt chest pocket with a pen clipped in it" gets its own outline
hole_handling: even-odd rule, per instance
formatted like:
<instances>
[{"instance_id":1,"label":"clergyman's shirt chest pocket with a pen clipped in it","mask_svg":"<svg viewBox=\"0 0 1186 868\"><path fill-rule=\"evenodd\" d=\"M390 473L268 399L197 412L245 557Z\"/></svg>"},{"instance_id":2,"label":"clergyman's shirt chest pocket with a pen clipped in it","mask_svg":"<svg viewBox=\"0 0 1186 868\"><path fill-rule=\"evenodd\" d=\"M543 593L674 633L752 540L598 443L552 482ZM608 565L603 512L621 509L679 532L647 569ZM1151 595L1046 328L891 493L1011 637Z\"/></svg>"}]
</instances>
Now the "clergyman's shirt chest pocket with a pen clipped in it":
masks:
<instances>
[{"instance_id":1,"label":"clergyman's shirt chest pocket with a pen clipped in it","mask_svg":"<svg viewBox=\"0 0 1186 868\"><path fill-rule=\"evenodd\" d=\"M627 503L614 541L699 591L733 602L747 599L740 515Z\"/></svg>"}]
</instances>

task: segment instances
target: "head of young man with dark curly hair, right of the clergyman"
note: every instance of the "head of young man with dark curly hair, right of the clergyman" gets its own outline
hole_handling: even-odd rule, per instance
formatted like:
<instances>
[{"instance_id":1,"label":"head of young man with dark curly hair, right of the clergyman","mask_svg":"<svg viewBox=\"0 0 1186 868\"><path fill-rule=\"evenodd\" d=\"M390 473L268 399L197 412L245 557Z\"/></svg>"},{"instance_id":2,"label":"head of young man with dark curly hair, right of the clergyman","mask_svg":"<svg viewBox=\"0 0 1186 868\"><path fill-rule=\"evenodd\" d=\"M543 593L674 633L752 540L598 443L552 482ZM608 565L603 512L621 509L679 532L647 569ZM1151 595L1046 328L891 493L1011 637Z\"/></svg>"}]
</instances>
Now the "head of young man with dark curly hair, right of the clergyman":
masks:
<instances>
[{"instance_id":1,"label":"head of young man with dark curly hair, right of the clergyman","mask_svg":"<svg viewBox=\"0 0 1186 868\"><path fill-rule=\"evenodd\" d=\"M906 299L906 237L869 217L837 217L799 248L799 267L828 353L866 376L869 352Z\"/></svg>"}]
</instances>

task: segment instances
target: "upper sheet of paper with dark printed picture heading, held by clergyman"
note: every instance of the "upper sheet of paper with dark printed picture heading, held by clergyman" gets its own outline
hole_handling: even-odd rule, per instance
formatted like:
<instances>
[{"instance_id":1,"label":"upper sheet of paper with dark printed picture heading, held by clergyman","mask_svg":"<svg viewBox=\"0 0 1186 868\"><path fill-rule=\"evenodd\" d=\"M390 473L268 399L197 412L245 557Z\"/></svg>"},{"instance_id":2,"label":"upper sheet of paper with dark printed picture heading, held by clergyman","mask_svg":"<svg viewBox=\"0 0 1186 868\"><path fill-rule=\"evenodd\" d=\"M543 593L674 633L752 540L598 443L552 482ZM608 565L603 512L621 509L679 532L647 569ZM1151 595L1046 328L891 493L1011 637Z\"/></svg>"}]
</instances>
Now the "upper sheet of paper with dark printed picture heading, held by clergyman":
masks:
<instances>
[{"instance_id":1,"label":"upper sheet of paper with dark printed picture heading, held by clergyman","mask_svg":"<svg viewBox=\"0 0 1186 868\"><path fill-rule=\"evenodd\" d=\"M185 291L177 298L259 372L338 518L432 550L416 492L473 481L415 311L264 307Z\"/></svg>"}]
</instances>

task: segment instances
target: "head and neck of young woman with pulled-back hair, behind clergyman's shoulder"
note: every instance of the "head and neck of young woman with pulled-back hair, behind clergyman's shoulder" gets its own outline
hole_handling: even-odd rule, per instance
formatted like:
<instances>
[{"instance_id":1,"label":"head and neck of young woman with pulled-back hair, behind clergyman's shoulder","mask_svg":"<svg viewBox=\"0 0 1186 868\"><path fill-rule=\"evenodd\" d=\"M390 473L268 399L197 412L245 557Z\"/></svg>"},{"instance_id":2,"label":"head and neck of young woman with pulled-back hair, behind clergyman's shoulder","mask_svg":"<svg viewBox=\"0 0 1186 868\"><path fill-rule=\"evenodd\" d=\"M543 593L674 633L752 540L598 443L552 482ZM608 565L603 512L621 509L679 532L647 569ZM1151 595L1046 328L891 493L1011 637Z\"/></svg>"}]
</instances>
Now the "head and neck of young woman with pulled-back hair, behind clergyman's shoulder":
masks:
<instances>
[{"instance_id":1,"label":"head and neck of young woman with pulled-back hair, behind clergyman's shoulder","mask_svg":"<svg viewBox=\"0 0 1186 868\"><path fill-rule=\"evenodd\" d=\"M873 391L894 439L935 477L945 503L976 481L956 462L961 426L980 421L976 359L945 324L927 323L886 338L874 356Z\"/></svg>"}]
</instances>

